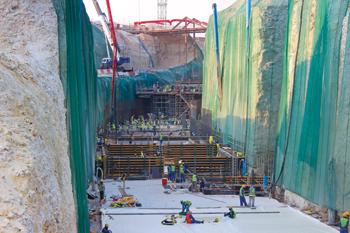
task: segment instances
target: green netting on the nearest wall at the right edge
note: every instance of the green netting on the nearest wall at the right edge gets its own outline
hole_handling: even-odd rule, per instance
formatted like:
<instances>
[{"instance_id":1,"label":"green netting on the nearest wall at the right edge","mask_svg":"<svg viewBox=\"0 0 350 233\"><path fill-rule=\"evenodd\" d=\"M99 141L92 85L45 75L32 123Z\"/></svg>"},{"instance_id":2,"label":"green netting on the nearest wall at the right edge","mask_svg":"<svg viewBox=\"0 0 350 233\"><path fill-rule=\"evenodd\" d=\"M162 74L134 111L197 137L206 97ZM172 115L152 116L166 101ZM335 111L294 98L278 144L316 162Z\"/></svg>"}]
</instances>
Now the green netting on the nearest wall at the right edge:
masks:
<instances>
[{"instance_id":1,"label":"green netting on the nearest wall at the right edge","mask_svg":"<svg viewBox=\"0 0 350 233\"><path fill-rule=\"evenodd\" d=\"M350 24L343 28L348 5L289 1L274 167L277 181L285 158L278 185L340 211L350 208Z\"/></svg>"}]
</instances>

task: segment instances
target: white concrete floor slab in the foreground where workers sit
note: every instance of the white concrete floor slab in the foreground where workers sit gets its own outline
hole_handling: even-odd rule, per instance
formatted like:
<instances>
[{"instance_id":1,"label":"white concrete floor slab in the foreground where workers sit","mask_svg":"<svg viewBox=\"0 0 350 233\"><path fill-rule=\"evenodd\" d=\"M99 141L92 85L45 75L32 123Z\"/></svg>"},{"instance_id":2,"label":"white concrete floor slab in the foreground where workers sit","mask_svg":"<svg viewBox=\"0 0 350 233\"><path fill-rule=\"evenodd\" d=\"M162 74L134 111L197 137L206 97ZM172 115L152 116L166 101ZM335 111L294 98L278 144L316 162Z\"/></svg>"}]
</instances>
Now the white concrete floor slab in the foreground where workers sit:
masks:
<instances>
[{"instance_id":1,"label":"white concrete floor slab in the foreground where workers sit","mask_svg":"<svg viewBox=\"0 0 350 233\"><path fill-rule=\"evenodd\" d=\"M145 181L126 181L128 194L142 203L142 207L110 207L110 196L119 195L118 186L121 182L106 180L107 203L101 211L105 214L102 225L109 224L112 232L259 232L259 233L299 233L299 232L338 232L337 230L313 219L298 210L281 204L274 199L256 198L257 208L234 208L237 212L235 219L224 217L222 212L228 212L228 206L238 206L237 195L195 195L187 190L177 190L165 194L161 179ZM173 226L165 226L161 221L166 214L176 214L181 211L181 200L190 200L190 210L197 220L204 220L204 224L186 224L185 218L177 219ZM248 200L247 200L248 201ZM166 209L168 208L168 209ZM279 213L267 213L277 211ZM211 212L212 214L206 214ZM242 213L240 213L242 212ZM243 213L244 212L244 213ZM265 213L256 213L265 212ZM255 214L254 214L255 213ZM124 214L124 215L108 215ZM132 214L132 215L125 215ZM157 214L157 215L141 215ZM109 217L111 216L111 217ZM213 223L215 218L221 219Z\"/></svg>"}]
</instances>

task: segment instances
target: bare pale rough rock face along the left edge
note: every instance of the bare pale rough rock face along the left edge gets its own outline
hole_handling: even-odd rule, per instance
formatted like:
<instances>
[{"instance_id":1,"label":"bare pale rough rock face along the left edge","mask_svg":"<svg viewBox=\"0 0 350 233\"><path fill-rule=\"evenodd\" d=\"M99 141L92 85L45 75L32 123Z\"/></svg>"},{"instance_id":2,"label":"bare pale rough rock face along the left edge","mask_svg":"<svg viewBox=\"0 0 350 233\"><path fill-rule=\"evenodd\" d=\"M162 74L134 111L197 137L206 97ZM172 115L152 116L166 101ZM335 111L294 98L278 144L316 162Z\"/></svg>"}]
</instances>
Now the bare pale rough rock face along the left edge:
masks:
<instances>
[{"instance_id":1,"label":"bare pale rough rock face along the left edge","mask_svg":"<svg viewBox=\"0 0 350 233\"><path fill-rule=\"evenodd\" d=\"M0 1L0 232L76 232L50 0Z\"/></svg>"}]
</instances>

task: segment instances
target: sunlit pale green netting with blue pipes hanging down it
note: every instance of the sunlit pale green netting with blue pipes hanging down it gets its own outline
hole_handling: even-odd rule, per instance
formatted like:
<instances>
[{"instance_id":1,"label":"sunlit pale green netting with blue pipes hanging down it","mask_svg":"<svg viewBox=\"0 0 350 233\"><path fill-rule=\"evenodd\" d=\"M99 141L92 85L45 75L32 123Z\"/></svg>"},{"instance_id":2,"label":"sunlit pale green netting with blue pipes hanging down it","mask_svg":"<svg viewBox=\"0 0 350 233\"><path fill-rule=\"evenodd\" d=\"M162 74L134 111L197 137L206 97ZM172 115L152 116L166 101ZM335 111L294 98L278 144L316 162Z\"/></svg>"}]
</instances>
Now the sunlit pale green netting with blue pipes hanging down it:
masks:
<instances>
[{"instance_id":1,"label":"sunlit pale green netting with blue pipes hanging down it","mask_svg":"<svg viewBox=\"0 0 350 233\"><path fill-rule=\"evenodd\" d=\"M245 156L248 157L250 166L257 166L257 159L261 157L269 161L273 159L287 10L287 0L252 1L248 78L245 1L236 2L218 13L223 90L221 109L213 16L208 23L203 62L202 108L211 111L213 127L223 133L222 143L230 143L229 136L245 141L247 135ZM270 167L265 166L269 169L268 172L272 170L272 162L270 163Z\"/></svg>"}]
</instances>

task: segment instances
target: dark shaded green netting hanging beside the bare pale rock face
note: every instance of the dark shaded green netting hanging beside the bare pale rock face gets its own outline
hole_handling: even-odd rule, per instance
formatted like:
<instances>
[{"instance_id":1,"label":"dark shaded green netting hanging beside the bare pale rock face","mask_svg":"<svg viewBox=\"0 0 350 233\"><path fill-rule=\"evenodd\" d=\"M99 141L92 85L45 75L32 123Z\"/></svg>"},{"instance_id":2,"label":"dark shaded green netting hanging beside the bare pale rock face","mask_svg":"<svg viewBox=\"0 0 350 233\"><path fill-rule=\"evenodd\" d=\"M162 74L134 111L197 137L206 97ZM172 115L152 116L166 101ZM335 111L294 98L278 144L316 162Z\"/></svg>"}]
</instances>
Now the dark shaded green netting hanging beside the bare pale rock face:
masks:
<instances>
[{"instance_id":1,"label":"dark shaded green netting hanging beside the bare pale rock face","mask_svg":"<svg viewBox=\"0 0 350 233\"><path fill-rule=\"evenodd\" d=\"M67 108L68 154L77 229L88 232L90 223L85 192L93 172L99 120L92 28L82 1L52 2L58 16L59 65Z\"/></svg>"}]
</instances>

